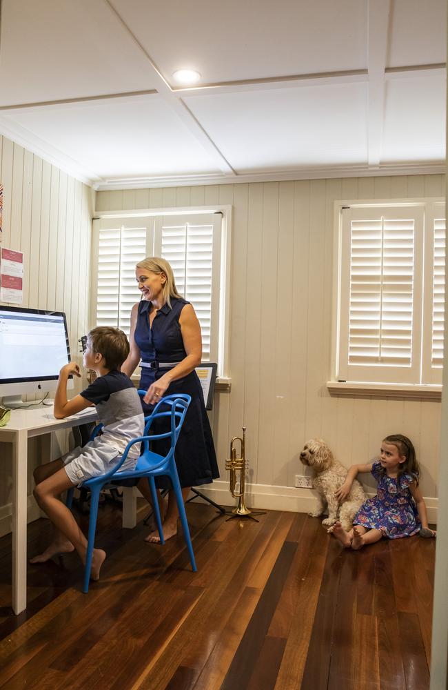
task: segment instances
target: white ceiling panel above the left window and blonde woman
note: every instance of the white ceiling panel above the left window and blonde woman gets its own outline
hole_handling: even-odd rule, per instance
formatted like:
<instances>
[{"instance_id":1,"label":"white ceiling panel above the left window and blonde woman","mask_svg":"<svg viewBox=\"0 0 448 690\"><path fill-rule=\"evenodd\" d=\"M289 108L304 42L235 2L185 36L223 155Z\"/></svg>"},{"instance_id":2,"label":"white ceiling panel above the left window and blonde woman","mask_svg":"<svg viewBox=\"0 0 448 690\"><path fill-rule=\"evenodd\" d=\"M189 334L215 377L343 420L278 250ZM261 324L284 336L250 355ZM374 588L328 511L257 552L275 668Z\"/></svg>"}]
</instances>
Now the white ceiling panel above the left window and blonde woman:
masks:
<instances>
[{"instance_id":1,"label":"white ceiling panel above the left window and blonde woman","mask_svg":"<svg viewBox=\"0 0 448 690\"><path fill-rule=\"evenodd\" d=\"M157 96L3 112L95 178L216 172L181 119Z\"/></svg>"}]
</instances>

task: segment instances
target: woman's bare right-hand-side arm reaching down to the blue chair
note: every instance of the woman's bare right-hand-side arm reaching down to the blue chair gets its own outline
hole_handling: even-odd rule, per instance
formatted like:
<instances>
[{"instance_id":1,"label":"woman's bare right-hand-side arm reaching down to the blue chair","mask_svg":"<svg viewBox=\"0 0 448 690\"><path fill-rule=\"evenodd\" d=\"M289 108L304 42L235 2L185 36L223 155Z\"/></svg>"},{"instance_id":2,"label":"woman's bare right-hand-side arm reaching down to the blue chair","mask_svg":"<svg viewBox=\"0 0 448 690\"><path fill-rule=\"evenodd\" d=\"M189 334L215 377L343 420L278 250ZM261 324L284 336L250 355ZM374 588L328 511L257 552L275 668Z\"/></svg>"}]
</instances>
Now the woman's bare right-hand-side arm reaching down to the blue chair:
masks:
<instances>
[{"instance_id":1,"label":"woman's bare right-hand-side arm reaching down to the blue chair","mask_svg":"<svg viewBox=\"0 0 448 690\"><path fill-rule=\"evenodd\" d=\"M201 364L201 326L191 304L185 304L183 307L179 317L179 326L181 326L183 346L187 356L183 358L182 362L173 366L172 369L169 369L163 376L154 381L152 386L147 389L147 393L143 398L147 404L159 402L172 381L181 379L192 372L198 364Z\"/></svg>"}]
</instances>

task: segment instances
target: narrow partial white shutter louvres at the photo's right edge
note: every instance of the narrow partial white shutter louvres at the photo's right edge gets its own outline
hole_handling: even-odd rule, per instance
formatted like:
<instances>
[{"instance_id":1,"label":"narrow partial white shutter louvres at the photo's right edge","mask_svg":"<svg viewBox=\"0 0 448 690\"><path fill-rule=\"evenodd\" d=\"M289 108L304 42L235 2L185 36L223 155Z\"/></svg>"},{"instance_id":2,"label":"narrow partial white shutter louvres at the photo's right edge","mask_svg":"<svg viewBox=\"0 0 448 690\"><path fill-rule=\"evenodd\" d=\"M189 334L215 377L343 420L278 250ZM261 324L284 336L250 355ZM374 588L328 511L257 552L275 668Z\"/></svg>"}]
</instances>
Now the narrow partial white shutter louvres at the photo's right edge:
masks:
<instances>
[{"instance_id":1,"label":"narrow partial white shutter louvres at the photo's right edge","mask_svg":"<svg viewBox=\"0 0 448 690\"><path fill-rule=\"evenodd\" d=\"M431 366L443 364L445 324L445 219L434 219Z\"/></svg>"}]
</instances>

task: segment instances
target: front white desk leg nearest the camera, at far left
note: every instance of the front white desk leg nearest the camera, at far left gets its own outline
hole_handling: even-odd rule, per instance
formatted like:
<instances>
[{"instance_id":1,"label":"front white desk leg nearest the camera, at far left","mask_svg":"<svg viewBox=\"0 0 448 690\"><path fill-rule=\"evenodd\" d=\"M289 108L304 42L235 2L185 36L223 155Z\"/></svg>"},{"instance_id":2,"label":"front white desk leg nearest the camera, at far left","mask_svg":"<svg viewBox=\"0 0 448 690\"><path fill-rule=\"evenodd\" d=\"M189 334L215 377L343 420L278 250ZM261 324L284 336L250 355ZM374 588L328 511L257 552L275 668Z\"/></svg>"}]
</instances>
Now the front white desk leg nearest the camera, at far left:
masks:
<instances>
[{"instance_id":1,"label":"front white desk leg nearest the camera, at far left","mask_svg":"<svg viewBox=\"0 0 448 690\"><path fill-rule=\"evenodd\" d=\"M28 433L18 431L12 454L12 609L26 609Z\"/></svg>"}]
</instances>

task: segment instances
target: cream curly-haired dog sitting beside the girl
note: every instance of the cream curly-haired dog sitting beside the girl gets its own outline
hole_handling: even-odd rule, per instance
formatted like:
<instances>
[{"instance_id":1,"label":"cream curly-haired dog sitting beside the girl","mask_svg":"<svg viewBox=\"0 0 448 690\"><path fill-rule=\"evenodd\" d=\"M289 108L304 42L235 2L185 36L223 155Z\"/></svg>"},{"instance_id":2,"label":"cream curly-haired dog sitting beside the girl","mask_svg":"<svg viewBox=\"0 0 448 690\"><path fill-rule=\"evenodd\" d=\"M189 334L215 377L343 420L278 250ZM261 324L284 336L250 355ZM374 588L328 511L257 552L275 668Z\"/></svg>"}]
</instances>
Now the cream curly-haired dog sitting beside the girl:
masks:
<instances>
[{"instance_id":1,"label":"cream curly-haired dog sitting beside the girl","mask_svg":"<svg viewBox=\"0 0 448 690\"><path fill-rule=\"evenodd\" d=\"M320 438L312 438L305 443L300 457L303 464L312 467L316 473L313 488L318 491L319 505L309 515L319 517L328 506L328 517L322 521L322 524L329 527L327 531L332 532L332 525L336 520L340 521L345 531L352 529L354 516L367 500L363 487L354 480L347 499L339 504L335 493L345 482L347 468L335 460L332 451Z\"/></svg>"}]
</instances>

